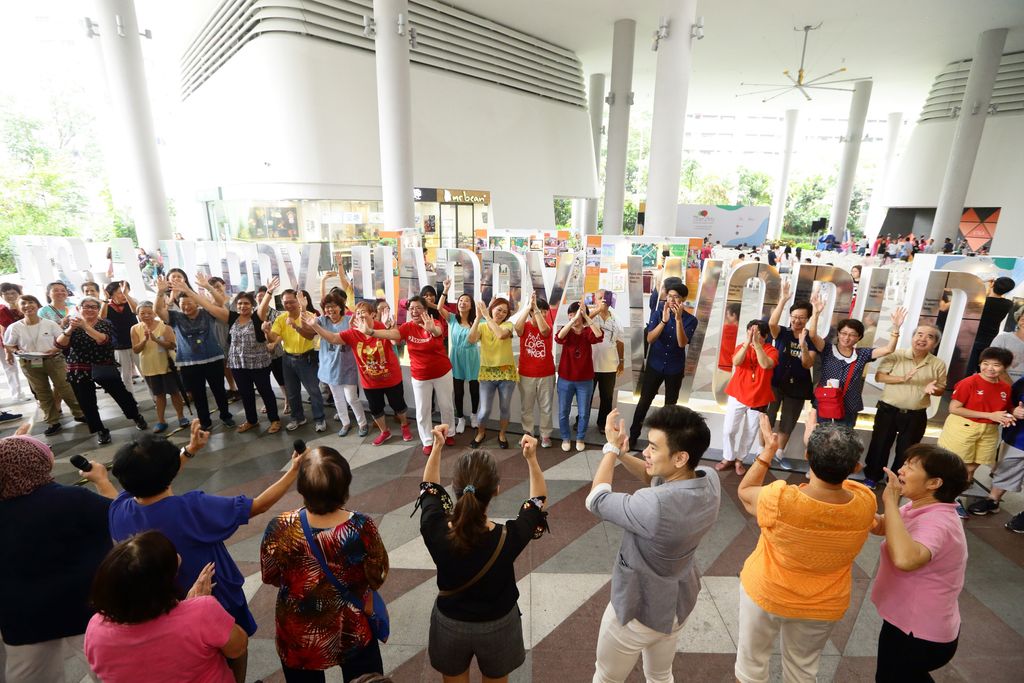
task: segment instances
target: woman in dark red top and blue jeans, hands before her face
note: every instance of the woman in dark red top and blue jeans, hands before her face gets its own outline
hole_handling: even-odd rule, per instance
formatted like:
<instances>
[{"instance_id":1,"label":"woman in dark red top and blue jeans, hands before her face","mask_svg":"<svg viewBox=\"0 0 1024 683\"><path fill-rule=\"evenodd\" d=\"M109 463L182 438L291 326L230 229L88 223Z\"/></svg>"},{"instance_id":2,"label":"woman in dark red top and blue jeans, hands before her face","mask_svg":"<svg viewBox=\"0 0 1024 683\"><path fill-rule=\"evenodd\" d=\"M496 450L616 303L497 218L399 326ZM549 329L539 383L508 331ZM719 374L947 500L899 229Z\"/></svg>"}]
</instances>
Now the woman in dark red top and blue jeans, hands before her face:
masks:
<instances>
[{"instance_id":1,"label":"woman in dark red top and blue jeans, hands before her face","mask_svg":"<svg viewBox=\"0 0 1024 683\"><path fill-rule=\"evenodd\" d=\"M558 431L561 432L562 451L566 453L570 449L569 411L572 410L573 396L580 414L577 451L587 447L584 436L590 424L590 403L594 397L594 355L591 347L599 343L604 335L601 326L591 319L583 301L573 301L568 313L571 316L569 324L555 335L555 341L563 345L558 359Z\"/></svg>"}]
</instances>

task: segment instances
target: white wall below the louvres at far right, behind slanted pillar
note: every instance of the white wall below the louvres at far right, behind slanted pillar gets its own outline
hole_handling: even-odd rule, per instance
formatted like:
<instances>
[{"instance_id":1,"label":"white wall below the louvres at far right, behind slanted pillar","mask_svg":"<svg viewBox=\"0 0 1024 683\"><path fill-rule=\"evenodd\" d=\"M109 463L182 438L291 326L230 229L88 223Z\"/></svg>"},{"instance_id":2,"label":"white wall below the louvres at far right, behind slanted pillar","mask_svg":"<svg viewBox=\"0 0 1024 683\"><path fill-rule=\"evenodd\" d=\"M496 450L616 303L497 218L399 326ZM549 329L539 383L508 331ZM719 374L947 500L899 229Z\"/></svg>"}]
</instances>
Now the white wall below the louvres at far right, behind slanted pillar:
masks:
<instances>
[{"instance_id":1,"label":"white wall below the louvres at far right, behind slanted pillar","mask_svg":"<svg viewBox=\"0 0 1024 683\"><path fill-rule=\"evenodd\" d=\"M885 195L889 207L936 206L955 129L954 119L914 127ZM1020 236L1024 234L1022 155L1024 114L989 117L974 165L967 206L1002 208L992 243L994 255L1024 253L1020 242Z\"/></svg>"}]
</instances>

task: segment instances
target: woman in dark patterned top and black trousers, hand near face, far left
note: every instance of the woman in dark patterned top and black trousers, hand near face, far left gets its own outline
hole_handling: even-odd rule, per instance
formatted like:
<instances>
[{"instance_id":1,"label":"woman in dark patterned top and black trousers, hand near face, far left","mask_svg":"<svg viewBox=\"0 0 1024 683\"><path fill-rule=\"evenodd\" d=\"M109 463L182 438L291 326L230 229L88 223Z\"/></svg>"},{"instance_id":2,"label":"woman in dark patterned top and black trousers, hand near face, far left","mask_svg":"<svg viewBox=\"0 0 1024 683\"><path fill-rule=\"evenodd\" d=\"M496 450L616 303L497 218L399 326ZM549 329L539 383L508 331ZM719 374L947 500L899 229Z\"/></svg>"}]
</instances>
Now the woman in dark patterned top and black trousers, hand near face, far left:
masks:
<instances>
[{"instance_id":1,"label":"woman in dark patterned top and black trousers, hand near face, far left","mask_svg":"<svg viewBox=\"0 0 1024 683\"><path fill-rule=\"evenodd\" d=\"M57 337L56 345L67 349L68 383L85 413L89 432L98 433L100 445L111 442L111 430L99 418L96 385L103 388L121 408L125 417L139 429L148 425L138 412L138 403L121 381L118 364L114 360L114 326L99 317L99 299L84 297L78 304L81 317L70 316L68 329Z\"/></svg>"}]
</instances>

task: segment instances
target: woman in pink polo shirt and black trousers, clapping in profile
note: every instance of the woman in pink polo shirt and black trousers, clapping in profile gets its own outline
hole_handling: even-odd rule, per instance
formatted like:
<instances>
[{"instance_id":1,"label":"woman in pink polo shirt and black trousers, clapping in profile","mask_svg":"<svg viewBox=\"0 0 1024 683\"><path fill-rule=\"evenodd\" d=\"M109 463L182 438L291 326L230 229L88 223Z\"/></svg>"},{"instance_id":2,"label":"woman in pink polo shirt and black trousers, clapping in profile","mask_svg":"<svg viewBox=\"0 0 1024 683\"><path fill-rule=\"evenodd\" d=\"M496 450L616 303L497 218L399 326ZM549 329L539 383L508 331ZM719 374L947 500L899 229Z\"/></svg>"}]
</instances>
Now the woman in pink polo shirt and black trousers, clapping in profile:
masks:
<instances>
[{"instance_id":1,"label":"woman in pink polo shirt and black trousers, clapping in profile","mask_svg":"<svg viewBox=\"0 0 1024 683\"><path fill-rule=\"evenodd\" d=\"M876 681L931 681L956 653L967 539L956 497L967 467L953 453L919 443L882 495L885 529L871 602L884 620ZM910 502L899 506L900 496Z\"/></svg>"}]
</instances>

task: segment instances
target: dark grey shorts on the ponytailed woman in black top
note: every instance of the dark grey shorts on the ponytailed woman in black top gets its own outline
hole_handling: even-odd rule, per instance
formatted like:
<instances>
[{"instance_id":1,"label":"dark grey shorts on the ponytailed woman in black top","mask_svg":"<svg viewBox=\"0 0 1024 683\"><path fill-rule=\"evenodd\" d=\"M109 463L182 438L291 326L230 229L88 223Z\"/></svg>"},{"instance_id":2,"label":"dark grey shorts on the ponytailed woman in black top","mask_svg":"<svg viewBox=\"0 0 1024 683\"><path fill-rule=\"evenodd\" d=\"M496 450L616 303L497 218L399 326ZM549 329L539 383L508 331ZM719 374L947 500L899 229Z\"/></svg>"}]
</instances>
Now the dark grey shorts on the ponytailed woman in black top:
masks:
<instances>
[{"instance_id":1,"label":"dark grey shorts on the ponytailed woman in black top","mask_svg":"<svg viewBox=\"0 0 1024 683\"><path fill-rule=\"evenodd\" d=\"M435 602L427 652L430 666L442 676L461 675L474 655L487 678L508 676L526 660L518 605L494 622L460 622L442 614Z\"/></svg>"}]
</instances>

